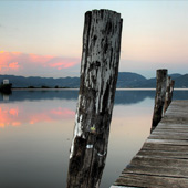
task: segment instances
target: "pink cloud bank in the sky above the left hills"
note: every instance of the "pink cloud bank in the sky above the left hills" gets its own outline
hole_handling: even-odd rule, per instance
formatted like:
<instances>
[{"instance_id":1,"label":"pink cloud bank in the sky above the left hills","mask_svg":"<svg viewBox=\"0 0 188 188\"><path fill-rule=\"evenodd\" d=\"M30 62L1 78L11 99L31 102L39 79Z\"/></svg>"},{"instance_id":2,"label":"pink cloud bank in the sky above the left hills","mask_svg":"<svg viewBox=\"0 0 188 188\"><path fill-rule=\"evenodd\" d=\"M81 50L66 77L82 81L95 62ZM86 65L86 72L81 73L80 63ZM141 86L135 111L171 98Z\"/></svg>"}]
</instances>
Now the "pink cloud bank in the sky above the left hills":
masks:
<instances>
[{"instance_id":1,"label":"pink cloud bank in the sky above the left hills","mask_svg":"<svg viewBox=\"0 0 188 188\"><path fill-rule=\"evenodd\" d=\"M32 72L36 70L42 70L42 72L46 70L48 72L48 70L70 69L75 66L79 62L79 59L72 58L0 51L1 73L9 73L10 71Z\"/></svg>"}]
</instances>

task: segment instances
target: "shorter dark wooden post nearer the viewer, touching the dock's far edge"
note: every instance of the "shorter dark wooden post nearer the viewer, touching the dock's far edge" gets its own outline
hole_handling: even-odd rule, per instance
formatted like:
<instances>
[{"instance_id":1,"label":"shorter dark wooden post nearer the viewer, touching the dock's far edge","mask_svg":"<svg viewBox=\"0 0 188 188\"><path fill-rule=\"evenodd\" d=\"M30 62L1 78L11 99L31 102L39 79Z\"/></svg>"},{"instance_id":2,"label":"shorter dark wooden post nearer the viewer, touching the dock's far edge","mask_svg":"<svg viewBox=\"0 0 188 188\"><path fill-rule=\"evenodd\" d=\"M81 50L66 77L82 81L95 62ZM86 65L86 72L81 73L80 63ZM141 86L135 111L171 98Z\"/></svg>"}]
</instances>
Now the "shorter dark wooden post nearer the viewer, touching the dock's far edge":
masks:
<instances>
[{"instance_id":1,"label":"shorter dark wooden post nearer the viewer, touching the dock's far edge","mask_svg":"<svg viewBox=\"0 0 188 188\"><path fill-rule=\"evenodd\" d=\"M155 96L154 115L152 123L152 132L158 125L163 117L163 109L166 96L167 70L157 70L157 86Z\"/></svg>"}]
</instances>

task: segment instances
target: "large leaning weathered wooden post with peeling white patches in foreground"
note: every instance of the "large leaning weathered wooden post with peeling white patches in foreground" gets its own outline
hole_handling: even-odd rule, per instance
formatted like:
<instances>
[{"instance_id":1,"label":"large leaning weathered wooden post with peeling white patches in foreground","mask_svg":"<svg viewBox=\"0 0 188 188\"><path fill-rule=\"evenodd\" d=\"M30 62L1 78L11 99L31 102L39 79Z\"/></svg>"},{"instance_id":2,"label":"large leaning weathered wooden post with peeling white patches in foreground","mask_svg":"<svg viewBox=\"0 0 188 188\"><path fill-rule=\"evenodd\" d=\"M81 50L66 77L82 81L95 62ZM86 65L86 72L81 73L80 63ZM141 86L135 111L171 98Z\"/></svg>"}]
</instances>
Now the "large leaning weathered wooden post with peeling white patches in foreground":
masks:
<instances>
[{"instance_id":1,"label":"large leaning weathered wooden post with peeling white patches in foreground","mask_svg":"<svg viewBox=\"0 0 188 188\"><path fill-rule=\"evenodd\" d=\"M121 14L86 12L67 188L97 188L107 154L121 51Z\"/></svg>"}]
</instances>

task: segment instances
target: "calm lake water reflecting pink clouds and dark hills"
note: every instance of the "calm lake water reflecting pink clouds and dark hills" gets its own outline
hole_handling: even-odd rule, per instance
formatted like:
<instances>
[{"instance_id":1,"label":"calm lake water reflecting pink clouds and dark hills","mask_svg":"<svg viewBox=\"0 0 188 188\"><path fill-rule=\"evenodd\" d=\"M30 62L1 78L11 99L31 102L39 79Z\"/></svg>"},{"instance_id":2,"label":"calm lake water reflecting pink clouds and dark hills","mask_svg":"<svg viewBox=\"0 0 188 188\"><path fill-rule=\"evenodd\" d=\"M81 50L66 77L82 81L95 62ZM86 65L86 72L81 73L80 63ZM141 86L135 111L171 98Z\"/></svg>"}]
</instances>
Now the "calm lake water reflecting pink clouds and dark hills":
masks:
<instances>
[{"instance_id":1,"label":"calm lake water reflecting pink clouds and dark hills","mask_svg":"<svg viewBox=\"0 0 188 188\"><path fill-rule=\"evenodd\" d=\"M0 187L65 188L77 91L0 94ZM117 91L101 188L108 188L149 135L155 91ZM176 91L174 100L188 100Z\"/></svg>"}]
</instances>

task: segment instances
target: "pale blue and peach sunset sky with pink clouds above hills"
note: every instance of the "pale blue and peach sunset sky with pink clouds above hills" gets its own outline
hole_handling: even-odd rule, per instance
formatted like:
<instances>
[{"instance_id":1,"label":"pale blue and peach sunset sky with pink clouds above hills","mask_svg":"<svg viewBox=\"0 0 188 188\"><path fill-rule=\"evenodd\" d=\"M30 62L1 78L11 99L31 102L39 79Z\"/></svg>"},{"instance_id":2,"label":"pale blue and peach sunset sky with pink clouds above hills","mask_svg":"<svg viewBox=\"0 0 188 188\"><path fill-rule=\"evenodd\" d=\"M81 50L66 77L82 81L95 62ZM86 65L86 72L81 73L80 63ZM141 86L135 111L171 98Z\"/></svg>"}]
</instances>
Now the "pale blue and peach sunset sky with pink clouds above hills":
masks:
<instances>
[{"instance_id":1,"label":"pale blue and peach sunset sky with pink clouds above hills","mask_svg":"<svg viewBox=\"0 0 188 188\"><path fill-rule=\"evenodd\" d=\"M188 1L0 1L0 74L79 76L84 13L122 14L121 72L188 73Z\"/></svg>"}]
</instances>

